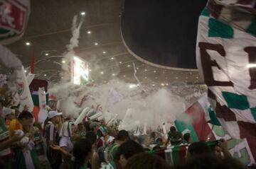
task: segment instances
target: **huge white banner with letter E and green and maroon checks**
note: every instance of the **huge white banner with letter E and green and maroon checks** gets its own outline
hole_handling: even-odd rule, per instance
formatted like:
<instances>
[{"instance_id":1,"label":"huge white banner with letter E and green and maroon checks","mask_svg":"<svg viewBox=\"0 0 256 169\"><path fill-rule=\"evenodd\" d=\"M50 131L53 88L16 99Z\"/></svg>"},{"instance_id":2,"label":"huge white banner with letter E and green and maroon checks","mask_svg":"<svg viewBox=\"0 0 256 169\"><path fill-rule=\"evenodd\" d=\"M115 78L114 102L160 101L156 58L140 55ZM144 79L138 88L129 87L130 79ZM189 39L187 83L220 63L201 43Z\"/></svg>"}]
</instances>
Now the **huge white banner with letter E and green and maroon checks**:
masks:
<instances>
[{"instance_id":1,"label":"huge white banner with letter E and green and maroon checks","mask_svg":"<svg viewBox=\"0 0 256 169\"><path fill-rule=\"evenodd\" d=\"M239 4L225 8L216 2L210 0L199 18L197 65L218 121L232 138L246 140L255 163L256 20L236 10Z\"/></svg>"}]
</instances>

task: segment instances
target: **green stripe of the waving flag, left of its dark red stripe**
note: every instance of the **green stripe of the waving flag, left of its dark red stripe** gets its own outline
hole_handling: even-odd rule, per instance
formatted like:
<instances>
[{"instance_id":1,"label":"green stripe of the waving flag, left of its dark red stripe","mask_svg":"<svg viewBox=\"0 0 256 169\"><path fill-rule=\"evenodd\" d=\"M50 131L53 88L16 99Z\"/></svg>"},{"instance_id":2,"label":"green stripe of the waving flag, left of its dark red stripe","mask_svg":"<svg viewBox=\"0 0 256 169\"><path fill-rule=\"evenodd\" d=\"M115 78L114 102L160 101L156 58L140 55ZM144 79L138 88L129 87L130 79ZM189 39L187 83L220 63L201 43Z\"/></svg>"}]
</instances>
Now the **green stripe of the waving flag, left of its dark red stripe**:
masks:
<instances>
[{"instance_id":1,"label":"green stripe of the waving flag, left of its dark red stripe","mask_svg":"<svg viewBox=\"0 0 256 169\"><path fill-rule=\"evenodd\" d=\"M174 124L175 124L178 132L183 132L186 129L190 130L191 131L192 142L199 141L198 136L196 134L196 131L193 128L193 125L191 123L189 123L189 122L185 123L185 122L181 122L179 120L175 120Z\"/></svg>"}]
</instances>

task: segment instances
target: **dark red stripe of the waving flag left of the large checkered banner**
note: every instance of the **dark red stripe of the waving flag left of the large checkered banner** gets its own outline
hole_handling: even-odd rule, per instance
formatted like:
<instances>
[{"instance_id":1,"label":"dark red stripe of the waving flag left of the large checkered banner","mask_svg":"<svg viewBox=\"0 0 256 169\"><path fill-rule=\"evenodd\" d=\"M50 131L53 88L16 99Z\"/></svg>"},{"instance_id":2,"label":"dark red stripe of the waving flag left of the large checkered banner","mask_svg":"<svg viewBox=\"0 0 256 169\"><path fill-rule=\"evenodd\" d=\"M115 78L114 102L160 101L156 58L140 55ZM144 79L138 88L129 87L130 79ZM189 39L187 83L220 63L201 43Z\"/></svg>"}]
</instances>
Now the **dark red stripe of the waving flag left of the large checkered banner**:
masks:
<instances>
[{"instance_id":1,"label":"dark red stripe of the waving flag left of the large checkered banner","mask_svg":"<svg viewBox=\"0 0 256 169\"><path fill-rule=\"evenodd\" d=\"M214 141L215 137L205 118L205 111L200 103L196 102L188 107L186 113L191 117L191 124L198 135L199 141L206 141L209 136L210 141Z\"/></svg>"}]
</instances>

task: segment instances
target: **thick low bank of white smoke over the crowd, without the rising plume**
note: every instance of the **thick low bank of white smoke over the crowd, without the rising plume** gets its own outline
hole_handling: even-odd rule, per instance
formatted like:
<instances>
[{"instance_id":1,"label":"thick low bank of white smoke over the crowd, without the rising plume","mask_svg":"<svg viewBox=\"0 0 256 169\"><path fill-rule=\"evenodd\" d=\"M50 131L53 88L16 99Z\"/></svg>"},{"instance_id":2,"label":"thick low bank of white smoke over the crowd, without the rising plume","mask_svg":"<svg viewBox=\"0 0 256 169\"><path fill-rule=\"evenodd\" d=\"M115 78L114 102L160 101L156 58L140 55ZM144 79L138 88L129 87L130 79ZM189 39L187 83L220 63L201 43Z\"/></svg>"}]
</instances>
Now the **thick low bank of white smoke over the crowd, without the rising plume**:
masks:
<instances>
[{"instance_id":1,"label":"thick low bank of white smoke over the crowd, without the rising plume","mask_svg":"<svg viewBox=\"0 0 256 169\"><path fill-rule=\"evenodd\" d=\"M139 88L130 88L130 85L117 79L107 84L90 87L60 83L50 88L49 92L60 99L60 107L64 115L78 117L83 108L100 104L103 113L118 115L117 118L123 121L122 129L136 129L138 125L144 123L154 129L164 122L171 125L177 115L184 111L184 100L173 95L166 88L159 88L152 93L142 93ZM110 94L111 90L121 95L121 100L113 103L111 100L114 96ZM80 103L85 95L89 95L87 100L78 107L76 103Z\"/></svg>"}]
</instances>

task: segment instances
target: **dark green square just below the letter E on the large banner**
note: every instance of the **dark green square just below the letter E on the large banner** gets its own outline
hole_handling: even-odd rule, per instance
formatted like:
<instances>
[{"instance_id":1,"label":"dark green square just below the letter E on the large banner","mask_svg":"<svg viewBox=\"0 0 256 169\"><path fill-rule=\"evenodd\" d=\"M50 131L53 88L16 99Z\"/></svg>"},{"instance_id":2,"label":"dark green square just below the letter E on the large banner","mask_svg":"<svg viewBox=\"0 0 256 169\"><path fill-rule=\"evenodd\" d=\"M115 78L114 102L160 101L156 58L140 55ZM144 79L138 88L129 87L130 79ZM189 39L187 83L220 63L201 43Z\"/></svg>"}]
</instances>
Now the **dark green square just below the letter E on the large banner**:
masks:
<instances>
[{"instance_id":1,"label":"dark green square just below the letter E on the large banner","mask_svg":"<svg viewBox=\"0 0 256 169\"><path fill-rule=\"evenodd\" d=\"M238 110L246 110L250 108L246 95L238 95L227 91L223 91L222 94L223 98L225 98L225 101L228 103L229 108Z\"/></svg>"}]
</instances>

